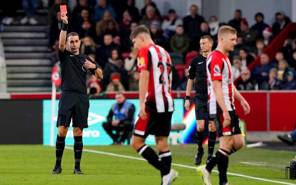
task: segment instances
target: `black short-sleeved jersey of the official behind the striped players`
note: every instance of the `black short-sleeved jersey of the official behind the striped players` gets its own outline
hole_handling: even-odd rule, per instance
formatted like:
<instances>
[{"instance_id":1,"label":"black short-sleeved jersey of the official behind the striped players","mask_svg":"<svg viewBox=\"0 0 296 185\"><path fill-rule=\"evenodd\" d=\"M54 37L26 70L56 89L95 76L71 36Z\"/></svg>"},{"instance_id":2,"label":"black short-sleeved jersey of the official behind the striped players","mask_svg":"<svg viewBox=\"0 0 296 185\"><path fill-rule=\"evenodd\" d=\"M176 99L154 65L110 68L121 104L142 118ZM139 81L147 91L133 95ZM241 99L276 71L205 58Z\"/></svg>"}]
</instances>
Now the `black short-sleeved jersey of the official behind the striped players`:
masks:
<instances>
[{"instance_id":1,"label":"black short-sleeved jersey of the official behind the striped players","mask_svg":"<svg viewBox=\"0 0 296 185\"><path fill-rule=\"evenodd\" d=\"M191 60L188 70L188 78L195 78L196 92L204 94L208 94L206 60L207 57L204 57L202 54L197 57L194 57Z\"/></svg>"}]
</instances>

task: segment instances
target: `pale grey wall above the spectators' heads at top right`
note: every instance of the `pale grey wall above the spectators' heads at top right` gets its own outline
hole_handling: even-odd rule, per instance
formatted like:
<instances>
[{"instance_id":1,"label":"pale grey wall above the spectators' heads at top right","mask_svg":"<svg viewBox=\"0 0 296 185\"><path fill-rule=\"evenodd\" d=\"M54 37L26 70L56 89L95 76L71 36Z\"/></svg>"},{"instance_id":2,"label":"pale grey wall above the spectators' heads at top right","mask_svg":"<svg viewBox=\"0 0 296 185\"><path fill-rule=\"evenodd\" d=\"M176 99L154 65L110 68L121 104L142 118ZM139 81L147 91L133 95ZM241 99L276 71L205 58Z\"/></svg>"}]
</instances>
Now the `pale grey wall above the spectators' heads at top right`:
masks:
<instances>
[{"instance_id":1,"label":"pale grey wall above the spectators' heads at top right","mask_svg":"<svg viewBox=\"0 0 296 185\"><path fill-rule=\"evenodd\" d=\"M293 3L292 3L293 1ZM144 0L135 0L139 11L144 6ZM243 17L249 21L249 25L255 23L254 15L262 12L265 15L265 22L270 26L274 22L275 13L283 11L296 21L296 0L153 0L162 15L166 15L170 8L176 10L180 17L187 15L189 6L196 4L199 6L199 14L205 20L209 20L211 15L216 15L220 22L228 22L233 18L234 11L241 9Z\"/></svg>"}]
</instances>

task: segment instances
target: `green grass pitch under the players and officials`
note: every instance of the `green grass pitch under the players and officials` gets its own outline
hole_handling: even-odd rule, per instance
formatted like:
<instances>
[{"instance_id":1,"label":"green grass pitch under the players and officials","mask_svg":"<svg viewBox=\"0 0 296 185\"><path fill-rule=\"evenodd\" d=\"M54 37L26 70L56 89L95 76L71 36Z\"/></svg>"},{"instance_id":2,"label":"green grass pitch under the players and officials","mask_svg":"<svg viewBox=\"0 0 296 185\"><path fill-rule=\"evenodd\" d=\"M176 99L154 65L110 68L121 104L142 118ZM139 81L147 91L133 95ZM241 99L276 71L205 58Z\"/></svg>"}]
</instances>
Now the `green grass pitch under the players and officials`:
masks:
<instances>
[{"instance_id":1,"label":"green grass pitch under the players and officials","mask_svg":"<svg viewBox=\"0 0 296 185\"><path fill-rule=\"evenodd\" d=\"M207 157L207 145L202 164ZM218 148L216 145L215 151ZM131 146L84 146L84 149L116 153L137 158ZM155 149L155 147L153 147ZM171 146L173 163L197 167L193 163L197 145ZM55 164L55 148L42 145L0 145L0 184L157 184L160 173L147 161L121 158L84 151L81 160L82 175L73 174L74 152L65 149L62 173L50 174ZM274 151L258 148L242 148L230 156L228 172L258 177L273 181L296 184L296 180L285 179L285 166L294 159L294 152ZM173 184L202 184L195 169L172 166L179 172L179 179ZM214 170L217 170L215 167ZM233 185L277 184L257 179L228 175ZM219 183L218 174L212 172L212 184Z\"/></svg>"}]
</instances>

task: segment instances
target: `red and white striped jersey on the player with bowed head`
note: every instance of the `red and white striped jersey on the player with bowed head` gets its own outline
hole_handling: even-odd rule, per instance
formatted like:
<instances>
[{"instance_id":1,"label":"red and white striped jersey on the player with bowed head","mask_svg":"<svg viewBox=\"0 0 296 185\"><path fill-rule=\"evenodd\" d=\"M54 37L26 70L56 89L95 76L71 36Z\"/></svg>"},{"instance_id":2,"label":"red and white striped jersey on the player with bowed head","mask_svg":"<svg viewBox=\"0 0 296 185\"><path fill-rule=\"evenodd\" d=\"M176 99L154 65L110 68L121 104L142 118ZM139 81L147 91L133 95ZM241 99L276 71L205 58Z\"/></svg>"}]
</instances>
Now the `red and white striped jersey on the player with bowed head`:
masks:
<instances>
[{"instance_id":1,"label":"red and white striped jersey on the player with bowed head","mask_svg":"<svg viewBox=\"0 0 296 185\"><path fill-rule=\"evenodd\" d=\"M174 111L171 64L170 55L158 45L150 44L139 50L138 71L150 72L145 102L151 111Z\"/></svg>"}]
</instances>

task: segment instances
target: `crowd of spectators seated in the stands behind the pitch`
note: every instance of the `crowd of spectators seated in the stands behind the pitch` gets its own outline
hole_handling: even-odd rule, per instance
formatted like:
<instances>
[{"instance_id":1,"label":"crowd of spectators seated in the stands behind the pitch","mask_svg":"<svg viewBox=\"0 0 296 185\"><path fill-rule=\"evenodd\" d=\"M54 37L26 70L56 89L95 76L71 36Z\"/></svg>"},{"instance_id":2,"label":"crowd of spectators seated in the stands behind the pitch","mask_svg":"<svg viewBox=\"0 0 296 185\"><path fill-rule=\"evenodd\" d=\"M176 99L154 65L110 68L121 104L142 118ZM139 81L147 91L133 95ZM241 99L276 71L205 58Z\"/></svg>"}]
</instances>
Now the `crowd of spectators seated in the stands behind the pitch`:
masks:
<instances>
[{"instance_id":1,"label":"crowd of spectators seated in the stands behind the pitch","mask_svg":"<svg viewBox=\"0 0 296 185\"><path fill-rule=\"evenodd\" d=\"M68 12L68 32L75 31L82 41L80 52L91 55L103 69L104 78L92 88L99 93L103 91L138 90L139 74L137 72L138 49L133 48L130 33L138 25L146 25L155 44L168 52L199 52L199 40L210 35L214 39L215 49L217 33L221 25L230 25L237 30L237 45L229 53L232 61L233 79L241 76L237 82L239 90L295 89L294 68L296 67L296 39L292 35L287 39L281 51L276 53L276 60L262 53L264 48L286 27L290 19L283 12L275 14L275 22L268 25L264 15L258 12L256 23L249 25L243 18L241 10L236 10L233 19L221 23L215 15L207 21L198 14L198 7L191 5L188 15L180 17L175 10L167 15L160 15L154 2L144 0L144 7L138 10L134 0L107 1L78 0L77 7ZM118 4L120 3L120 4ZM55 47L61 29L60 5L63 0L55 0L49 8L50 47ZM260 55L260 65L252 71L247 67ZM174 61L173 61L173 65ZM187 78L173 66L173 90L186 90ZM180 76L182 75L182 76ZM92 77L90 77L92 79ZM91 81L91 80L89 80ZM90 87L88 83L88 86ZM98 87L99 86L99 87Z\"/></svg>"}]
</instances>

